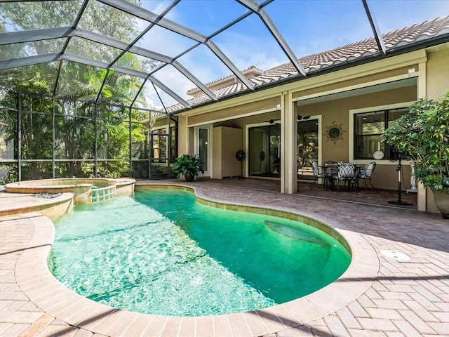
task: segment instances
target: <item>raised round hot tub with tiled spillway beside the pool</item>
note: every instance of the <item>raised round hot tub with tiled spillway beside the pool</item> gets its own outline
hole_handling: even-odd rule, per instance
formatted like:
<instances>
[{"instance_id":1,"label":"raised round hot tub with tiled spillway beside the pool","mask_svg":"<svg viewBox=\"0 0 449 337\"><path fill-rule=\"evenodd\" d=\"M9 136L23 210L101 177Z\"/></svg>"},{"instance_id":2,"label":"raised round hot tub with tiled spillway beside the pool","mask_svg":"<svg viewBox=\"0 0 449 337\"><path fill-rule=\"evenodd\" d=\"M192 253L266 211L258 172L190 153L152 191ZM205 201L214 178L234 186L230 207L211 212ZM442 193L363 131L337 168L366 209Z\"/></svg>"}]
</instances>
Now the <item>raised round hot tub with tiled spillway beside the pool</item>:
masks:
<instances>
[{"instance_id":1,"label":"raised round hot tub with tiled spillway beside the pool","mask_svg":"<svg viewBox=\"0 0 449 337\"><path fill-rule=\"evenodd\" d=\"M74 193L74 204L93 204L116 194L133 194L134 179L130 178L60 178L27 180L5 185L10 193Z\"/></svg>"}]
</instances>

